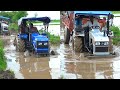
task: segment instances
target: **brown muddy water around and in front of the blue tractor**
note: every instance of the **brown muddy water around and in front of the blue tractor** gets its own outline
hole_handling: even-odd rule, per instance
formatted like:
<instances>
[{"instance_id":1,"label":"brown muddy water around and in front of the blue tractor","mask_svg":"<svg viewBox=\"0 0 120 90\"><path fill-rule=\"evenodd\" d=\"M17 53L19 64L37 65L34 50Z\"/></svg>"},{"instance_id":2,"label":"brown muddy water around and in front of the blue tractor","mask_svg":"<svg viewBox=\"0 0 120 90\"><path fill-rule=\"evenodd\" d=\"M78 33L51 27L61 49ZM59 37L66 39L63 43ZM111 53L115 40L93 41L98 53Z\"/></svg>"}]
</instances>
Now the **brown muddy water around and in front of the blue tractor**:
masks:
<instances>
[{"instance_id":1,"label":"brown muddy water around and in front of the blue tractor","mask_svg":"<svg viewBox=\"0 0 120 90\"><path fill-rule=\"evenodd\" d=\"M24 53L16 52L13 45L14 36L10 36L5 46L7 69L14 71L17 79L58 79L60 77L60 55L50 57L24 57ZM60 53L59 46L51 46Z\"/></svg>"}]
</instances>

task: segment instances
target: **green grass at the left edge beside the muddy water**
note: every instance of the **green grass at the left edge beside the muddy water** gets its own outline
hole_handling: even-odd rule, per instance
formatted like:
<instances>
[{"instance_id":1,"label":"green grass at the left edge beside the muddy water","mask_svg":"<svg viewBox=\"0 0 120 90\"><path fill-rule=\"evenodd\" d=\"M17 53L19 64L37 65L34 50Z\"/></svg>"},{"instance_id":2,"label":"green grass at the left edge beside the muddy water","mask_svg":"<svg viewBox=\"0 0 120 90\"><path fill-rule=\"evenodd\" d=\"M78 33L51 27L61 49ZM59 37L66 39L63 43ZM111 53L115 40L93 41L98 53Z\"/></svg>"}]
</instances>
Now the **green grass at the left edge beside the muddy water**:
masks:
<instances>
[{"instance_id":1,"label":"green grass at the left edge beside the muddy water","mask_svg":"<svg viewBox=\"0 0 120 90\"><path fill-rule=\"evenodd\" d=\"M0 70L5 70L7 67L3 47L4 47L3 42L2 42L2 40L0 40Z\"/></svg>"}]
</instances>

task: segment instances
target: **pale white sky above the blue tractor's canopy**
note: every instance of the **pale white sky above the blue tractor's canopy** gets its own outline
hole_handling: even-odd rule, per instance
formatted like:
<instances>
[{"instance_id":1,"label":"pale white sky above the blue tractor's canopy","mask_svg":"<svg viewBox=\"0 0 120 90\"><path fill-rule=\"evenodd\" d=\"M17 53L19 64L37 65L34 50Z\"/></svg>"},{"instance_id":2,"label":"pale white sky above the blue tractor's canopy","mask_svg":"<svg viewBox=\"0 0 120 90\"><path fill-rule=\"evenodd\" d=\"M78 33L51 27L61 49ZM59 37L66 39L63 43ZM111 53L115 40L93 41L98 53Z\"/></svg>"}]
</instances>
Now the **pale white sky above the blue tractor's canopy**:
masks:
<instances>
[{"instance_id":1,"label":"pale white sky above the blue tractor's canopy","mask_svg":"<svg viewBox=\"0 0 120 90\"><path fill-rule=\"evenodd\" d=\"M27 17L34 17L37 13L37 17L48 16L51 19L60 19L60 11L27 11Z\"/></svg>"}]
</instances>

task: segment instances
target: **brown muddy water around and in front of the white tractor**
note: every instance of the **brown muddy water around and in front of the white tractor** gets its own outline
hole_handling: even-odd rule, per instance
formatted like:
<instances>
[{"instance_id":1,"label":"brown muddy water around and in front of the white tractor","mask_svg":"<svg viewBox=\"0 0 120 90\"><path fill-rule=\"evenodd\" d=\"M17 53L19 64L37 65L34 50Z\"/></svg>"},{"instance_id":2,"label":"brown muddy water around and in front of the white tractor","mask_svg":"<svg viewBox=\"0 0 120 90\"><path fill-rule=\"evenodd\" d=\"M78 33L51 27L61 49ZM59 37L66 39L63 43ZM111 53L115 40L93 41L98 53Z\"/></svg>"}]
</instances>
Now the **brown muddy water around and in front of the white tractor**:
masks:
<instances>
[{"instance_id":1,"label":"brown muddy water around and in front of the white tractor","mask_svg":"<svg viewBox=\"0 0 120 90\"><path fill-rule=\"evenodd\" d=\"M61 31L61 39L63 37ZM120 79L120 47L115 58L85 58L83 54L72 50L72 43L61 44L61 76L64 79Z\"/></svg>"}]
</instances>

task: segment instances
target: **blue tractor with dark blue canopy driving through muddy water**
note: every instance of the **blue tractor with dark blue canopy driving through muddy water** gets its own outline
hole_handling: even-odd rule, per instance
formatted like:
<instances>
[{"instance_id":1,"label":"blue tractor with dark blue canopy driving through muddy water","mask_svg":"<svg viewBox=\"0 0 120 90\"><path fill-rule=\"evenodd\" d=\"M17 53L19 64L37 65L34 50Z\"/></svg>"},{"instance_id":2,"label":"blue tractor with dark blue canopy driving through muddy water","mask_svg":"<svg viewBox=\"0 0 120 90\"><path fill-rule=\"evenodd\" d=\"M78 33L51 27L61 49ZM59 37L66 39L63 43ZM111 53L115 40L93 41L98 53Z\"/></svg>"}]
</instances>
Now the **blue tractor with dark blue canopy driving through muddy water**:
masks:
<instances>
[{"instance_id":1,"label":"blue tractor with dark blue canopy driving through muddy water","mask_svg":"<svg viewBox=\"0 0 120 90\"><path fill-rule=\"evenodd\" d=\"M44 54L49 55L49 36L48 30L46 32L39 33L39 31L32 32L32 30L27 27L27 23L40 21L43 23L50 23L50 18L48 17L33 17L26 18L22 17L18 21L19 34L14 40L14 45L16 50L19 52L25 52L26 50L33 52L34 54Z\"/></svg>"}]
</instances>

